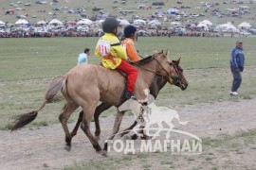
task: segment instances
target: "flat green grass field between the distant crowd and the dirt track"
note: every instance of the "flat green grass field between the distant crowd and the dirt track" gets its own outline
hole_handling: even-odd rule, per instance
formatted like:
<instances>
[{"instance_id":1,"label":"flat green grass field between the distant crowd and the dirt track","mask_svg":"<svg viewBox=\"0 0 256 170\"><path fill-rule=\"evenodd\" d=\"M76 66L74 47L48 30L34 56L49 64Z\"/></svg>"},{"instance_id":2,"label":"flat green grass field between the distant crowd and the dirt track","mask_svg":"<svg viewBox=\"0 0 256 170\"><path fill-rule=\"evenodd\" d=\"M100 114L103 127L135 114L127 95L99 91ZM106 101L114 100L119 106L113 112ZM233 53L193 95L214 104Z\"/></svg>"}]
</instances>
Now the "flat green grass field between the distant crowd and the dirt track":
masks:
<instances>
[{"instance_id":1,"label":"flat green grass field between the distant crowd and the dirt track","mask_svg":"<svg viewBox=\"0 0 256 170\"><path fill-rule=\"evenodd\" d=\"M34 110L44 100L47 85L55 76L64 75L77 64L84 47L91 49L90 63L100 59L93 55L97 38L0 39L0 128L10 126L10 117ZM245 45L246 69L239 90L244 99L255 97L256 41L242 39ZM184 92L167 85L158 96L158 105L184 106L240 100L229 96L231 74L229 51L236 39L232 38L141 38L137 49L141 56L149 56L155 47L170 50L170 58L181 57L181 66L190 85ZM33 125L58 123L64 101L50 103ZM77 110L79 111L79 110ZM107 116L111 111L106 111ZM71 121L76 119L73 114ZM33 126L32 125L32 126Z\"/></svg>"}]
</instances>

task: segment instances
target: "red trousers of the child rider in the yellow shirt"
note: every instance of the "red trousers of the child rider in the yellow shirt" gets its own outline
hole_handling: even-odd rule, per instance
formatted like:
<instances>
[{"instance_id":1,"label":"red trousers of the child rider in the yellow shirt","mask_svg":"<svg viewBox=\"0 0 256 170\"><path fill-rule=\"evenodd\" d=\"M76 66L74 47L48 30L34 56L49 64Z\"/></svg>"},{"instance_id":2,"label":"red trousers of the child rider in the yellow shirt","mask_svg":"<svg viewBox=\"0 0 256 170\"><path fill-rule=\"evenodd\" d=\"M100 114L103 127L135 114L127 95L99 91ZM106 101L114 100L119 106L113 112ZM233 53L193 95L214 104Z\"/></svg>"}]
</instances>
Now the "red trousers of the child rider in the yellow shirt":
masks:
<instances>
[{"instance_id":1,"label":"red trousers of the child rider in the yellow shirt","mask_svg":"<svg viewBox=\"0 0 256 170\"><path fill-rule=\"evenodd\" d=\"M124 72L127 75L128 82L126 91L129 93L134 93L135 83L137 80L137 69L123 59L121 59L121 63L117 67L117 69Z\"/></svg>"}]
</instances>

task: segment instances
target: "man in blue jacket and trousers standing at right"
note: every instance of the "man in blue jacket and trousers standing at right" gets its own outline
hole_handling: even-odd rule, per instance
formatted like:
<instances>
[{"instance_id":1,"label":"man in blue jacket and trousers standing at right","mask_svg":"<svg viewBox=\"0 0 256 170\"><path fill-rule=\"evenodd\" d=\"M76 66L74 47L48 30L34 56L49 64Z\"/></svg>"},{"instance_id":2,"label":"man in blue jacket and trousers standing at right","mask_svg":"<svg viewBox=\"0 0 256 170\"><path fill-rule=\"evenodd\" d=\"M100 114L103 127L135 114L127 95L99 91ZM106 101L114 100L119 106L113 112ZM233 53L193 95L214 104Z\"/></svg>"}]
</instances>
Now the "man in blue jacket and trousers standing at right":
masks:
<instances>
[{"instance_id":1,"label":"man in blue jacket and trousers standing at right","mask_svg":"<svg viewBox=\"0 0 256 170\"><path fill-rule=\"evenodd\" d=\"M230 52L230 69L233 75L233 83L230 95L237 95L237 90L241 85L241 72L244 71L245 55L243 42L237 41L236 46Z\"/></svg>"}]
</instances>

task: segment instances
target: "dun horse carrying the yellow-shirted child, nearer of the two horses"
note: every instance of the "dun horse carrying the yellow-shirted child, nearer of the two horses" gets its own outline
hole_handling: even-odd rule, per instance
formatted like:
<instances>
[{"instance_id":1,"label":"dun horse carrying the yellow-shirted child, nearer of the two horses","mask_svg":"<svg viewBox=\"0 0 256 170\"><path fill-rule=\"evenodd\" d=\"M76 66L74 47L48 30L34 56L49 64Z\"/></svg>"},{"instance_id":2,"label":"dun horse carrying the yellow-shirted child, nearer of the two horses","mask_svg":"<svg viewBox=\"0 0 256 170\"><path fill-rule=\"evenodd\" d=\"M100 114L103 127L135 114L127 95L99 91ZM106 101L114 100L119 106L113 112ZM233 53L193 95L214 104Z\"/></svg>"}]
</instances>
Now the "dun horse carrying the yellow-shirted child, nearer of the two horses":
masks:
<instances>
[{"instance_id":1,"label":"dun horse carrying the yellow-shirted child, nearer of the two horses","mask_svg":"<svg viewBox=\"0 0 256 170\"><path fill-rule=\"evenodd\" d=\"M136 67L138 77L135 96L138 100L146 98L143 90L149 89L155 75L162 76L170 83L177 76L175 68L167 57L167 52L156 53L151 57L139 60L136 62ZM38 112L46 106L46 103L61 91L66 100L64 111L59 116L64 128L65 139L71 139L67 120L71 113L81 106L83 110L82 130L97 153L104 155L105 152L102 151L100 144L90 131L90 122L99 101L116 107L124 102L122 92L125 85L120 82L124 82L124 76L120 76L117 71L107 70L100 65L78 65L64 76L56 77L50 83L41 107L18 115L11 130L19 129L32 122ZM116 120L115 124L119 125L120 120ZM117 125L115 127L118 127ZM113 131L113 133L116 132Z\"/></svg>"}]
</instances>

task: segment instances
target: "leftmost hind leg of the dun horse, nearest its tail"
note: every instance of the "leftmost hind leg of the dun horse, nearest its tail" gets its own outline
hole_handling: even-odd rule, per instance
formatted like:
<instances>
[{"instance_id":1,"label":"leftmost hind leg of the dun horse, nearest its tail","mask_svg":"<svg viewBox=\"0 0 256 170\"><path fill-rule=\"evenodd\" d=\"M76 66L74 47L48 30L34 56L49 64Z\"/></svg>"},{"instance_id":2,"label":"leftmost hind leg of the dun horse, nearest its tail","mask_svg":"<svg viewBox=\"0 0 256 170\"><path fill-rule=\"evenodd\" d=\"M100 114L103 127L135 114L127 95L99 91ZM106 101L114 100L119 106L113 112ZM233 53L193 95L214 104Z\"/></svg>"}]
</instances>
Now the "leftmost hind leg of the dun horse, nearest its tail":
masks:
<instances>
[{"instance_id":1,"label":"leftmost hind leg of the dun horse, nearest its tail","mask_svg":"<svg viewBox=\"0 0 256 170\"><path fill-rule=\"evenodd\" d=\"M71 146L71 135L69 133L68 127L67 127L67 120L69 118L69 116L71 115L71 113L76 110L79 106L76 103L66 103L64 111L62 112L62 114L60 114L59 119L62 123L62 126L64 128L64 133L65 133L65 144L68 146L67 149L70 149Z\"/></svg>"}]
</instances>

